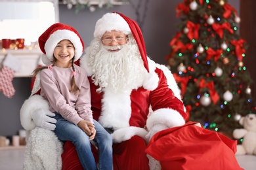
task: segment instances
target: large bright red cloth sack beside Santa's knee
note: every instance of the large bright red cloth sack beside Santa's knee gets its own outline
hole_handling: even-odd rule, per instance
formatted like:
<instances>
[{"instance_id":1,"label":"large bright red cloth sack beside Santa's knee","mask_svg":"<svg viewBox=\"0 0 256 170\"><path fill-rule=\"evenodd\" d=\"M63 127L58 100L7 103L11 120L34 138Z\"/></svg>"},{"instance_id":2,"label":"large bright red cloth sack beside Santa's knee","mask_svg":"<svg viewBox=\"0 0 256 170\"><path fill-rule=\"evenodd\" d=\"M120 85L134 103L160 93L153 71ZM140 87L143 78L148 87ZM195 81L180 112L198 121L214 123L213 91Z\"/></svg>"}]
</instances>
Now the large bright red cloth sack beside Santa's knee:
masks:
<instances>
[{"instance_id":1,"label":"large bright red cloth sack beside Santa's knee","mask_svg":"<svg viewBox=\"0 0 256 170\"><path fill-rule=\"evenodd\" d=\"M242 169L234 155L237 141L196 123L156 133L146 153L160 161L161 169Z\"/></svg>"}]
</instances>

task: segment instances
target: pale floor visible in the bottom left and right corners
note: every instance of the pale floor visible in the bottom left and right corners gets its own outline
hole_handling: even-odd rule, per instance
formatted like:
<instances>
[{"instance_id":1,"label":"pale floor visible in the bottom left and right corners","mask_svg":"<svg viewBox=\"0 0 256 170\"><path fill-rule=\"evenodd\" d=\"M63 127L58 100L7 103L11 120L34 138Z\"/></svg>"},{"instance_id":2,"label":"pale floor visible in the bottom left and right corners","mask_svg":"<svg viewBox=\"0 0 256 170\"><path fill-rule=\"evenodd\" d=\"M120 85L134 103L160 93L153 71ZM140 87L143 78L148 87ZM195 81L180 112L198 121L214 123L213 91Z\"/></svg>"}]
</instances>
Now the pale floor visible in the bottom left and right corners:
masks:
<instances>
[{"instance_id":1,"label":"pale floor visible in the bottom left and right corners","mask_svg":"<svg viewBox=\"0 0 256 170\"><path fill-rule=\"evenodd\" d=\"M1 170L22 170L25 147L20 146L0 148ZM256 156L236 156L238 163L245 170L256 170Z\"/></svg>"}]
</instances>

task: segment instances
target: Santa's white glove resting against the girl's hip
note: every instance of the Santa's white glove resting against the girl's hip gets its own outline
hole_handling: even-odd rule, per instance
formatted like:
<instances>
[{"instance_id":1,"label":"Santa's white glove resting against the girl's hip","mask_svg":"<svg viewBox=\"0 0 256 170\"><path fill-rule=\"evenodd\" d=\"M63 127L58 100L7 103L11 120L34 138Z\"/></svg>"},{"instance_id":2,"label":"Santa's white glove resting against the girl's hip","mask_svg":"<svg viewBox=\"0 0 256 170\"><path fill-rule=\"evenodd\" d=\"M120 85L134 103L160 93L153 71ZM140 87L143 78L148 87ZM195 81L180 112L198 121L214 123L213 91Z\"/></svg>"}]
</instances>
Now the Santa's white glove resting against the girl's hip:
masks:
<instances>
[{"instance_id":1,"label":"Santa's white glove resting against the girl's hip","mask_svg":"<svg viewBox=\"0 0 256 170\"><path fill-rule=\"evenodd\" d=\"M53 112L47 109L37 109L32 114L33 122L37 127L43 127L44 129L54 130L56 127L56 119Z\"/></svg>"}]
</instances>

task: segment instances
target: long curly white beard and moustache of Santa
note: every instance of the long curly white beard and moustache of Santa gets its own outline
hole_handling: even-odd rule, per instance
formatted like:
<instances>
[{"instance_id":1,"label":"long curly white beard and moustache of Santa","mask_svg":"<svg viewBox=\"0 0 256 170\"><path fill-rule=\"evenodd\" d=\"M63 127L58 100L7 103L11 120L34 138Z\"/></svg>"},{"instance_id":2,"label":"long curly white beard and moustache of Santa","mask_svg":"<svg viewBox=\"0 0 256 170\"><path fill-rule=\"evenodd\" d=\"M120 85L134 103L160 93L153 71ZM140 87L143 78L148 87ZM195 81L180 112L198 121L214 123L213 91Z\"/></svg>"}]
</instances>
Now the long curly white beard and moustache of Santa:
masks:
<instances>
[{"instance_id":1,"label":"long curly white beard and moustache of Santa","mask_svg":"<svg viewBox=\"0 0 256 170\"><path fill-rule=\"evenodd\" d=\"M110 48L121 50L109 52ZM98 92L107 88L112 92L125 93L142 86L147 71L136 44L103 46L95 40L91 49L94 49L94 54L89 57L89 65L93 68L93 82L100 86Z\"/></svg>"}]
</instances>

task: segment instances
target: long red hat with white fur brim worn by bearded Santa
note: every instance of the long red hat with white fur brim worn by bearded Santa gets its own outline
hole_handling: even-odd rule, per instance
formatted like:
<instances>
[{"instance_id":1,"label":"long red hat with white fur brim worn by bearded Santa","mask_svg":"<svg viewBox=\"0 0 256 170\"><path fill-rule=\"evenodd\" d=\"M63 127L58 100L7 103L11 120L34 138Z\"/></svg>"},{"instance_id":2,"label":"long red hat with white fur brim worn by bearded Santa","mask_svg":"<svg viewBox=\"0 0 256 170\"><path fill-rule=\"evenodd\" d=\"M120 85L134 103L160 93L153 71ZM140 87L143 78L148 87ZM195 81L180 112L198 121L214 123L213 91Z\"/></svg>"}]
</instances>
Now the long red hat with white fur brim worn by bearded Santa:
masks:
<instances>
[{"instance_id":1,"label":"long red hat with white fur brim worn by bearded Santa","mask_svg":"<svg viewBox=\"0 0 256 170\"><path fill-rule=\"evenodd\" d=\"M122 31L126 35L130 33L133 34L133 37L135 38L140 50L140 56L144 61L144 67L149 72L146 46L137 22L118 12L106 13L96 22L94 37L101 39L102 35L104 35L106 31L112 30Z\"/></svg>"}]
</instances>

